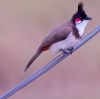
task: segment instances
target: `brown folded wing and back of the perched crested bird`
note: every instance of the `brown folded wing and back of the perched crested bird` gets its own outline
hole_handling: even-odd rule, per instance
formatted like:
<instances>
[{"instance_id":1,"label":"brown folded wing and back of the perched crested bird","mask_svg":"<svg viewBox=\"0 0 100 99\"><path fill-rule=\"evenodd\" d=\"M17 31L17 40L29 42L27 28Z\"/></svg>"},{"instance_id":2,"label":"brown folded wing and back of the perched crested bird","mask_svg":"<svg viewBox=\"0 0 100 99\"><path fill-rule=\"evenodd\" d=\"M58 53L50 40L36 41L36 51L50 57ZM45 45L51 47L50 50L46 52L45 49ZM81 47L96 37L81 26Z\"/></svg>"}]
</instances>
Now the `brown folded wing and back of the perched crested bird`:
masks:
<instances>
[{"instance_id":1,"label":"brown folded wing and back of the perched crested bird","mask_svg":"<svg viewBox=\"0 0 100 99\"><path fill-rule=\"evenodd\" d=\"M52 44L66 39L70 32L73 32L72 26L60 26L52 29L39 48L43 51L47 50Z\"/></svg>"}]
</instances>

